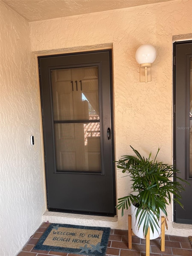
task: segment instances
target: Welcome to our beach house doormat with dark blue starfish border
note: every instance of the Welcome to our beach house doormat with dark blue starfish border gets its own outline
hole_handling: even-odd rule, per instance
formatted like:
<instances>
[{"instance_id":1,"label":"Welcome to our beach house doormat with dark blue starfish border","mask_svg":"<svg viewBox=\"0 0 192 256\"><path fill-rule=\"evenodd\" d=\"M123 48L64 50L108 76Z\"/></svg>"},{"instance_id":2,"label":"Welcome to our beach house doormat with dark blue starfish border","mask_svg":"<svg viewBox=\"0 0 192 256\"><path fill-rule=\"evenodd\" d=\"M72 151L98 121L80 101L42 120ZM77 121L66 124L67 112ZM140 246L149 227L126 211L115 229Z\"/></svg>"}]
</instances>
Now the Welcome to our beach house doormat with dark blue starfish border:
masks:
<instances>
[{"instance_id":1,"label":"Welcome to our beach house doormat with dark blue starfish border","mask_svg":"<svg viewBox=\"0 0 192 256\"><path fill-rule=\"evenodd\" d=\"M52 223L41 236L34 249L104 256L109 234L109 227Z\"/></svg>"}]
</instances>

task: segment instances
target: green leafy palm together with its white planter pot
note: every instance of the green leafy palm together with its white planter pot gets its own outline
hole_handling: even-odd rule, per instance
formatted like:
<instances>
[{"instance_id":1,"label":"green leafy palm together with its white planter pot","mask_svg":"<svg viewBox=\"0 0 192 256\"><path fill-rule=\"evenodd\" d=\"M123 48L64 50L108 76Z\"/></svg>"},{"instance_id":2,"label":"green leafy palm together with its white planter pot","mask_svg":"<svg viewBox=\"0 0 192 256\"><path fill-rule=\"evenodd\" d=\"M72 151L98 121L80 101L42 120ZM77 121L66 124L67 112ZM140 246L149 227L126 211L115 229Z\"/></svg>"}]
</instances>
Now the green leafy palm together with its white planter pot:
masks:
<instances>
[{"instance_id":1,"label":"green leafy palm together with its white planter pot","mask_svg":"<svg viewBox=\"0 0 192 256\"><path fill-rule=\"evenodd\" d=\"M155 239L161 232L161 211L167 216L166 206L171 203L172 194L173 200L182 206L179 199L180 191L184 188L174 179L179 171L173 165L156 161L160 149L155 159L151 160L151 153L148 158L144 158L132 146L131 148L136 156L122 156L116 163L123 173L128 174L126 176L130 176L133 192L119 198L116 207L122 209L123 216L124 210L131 206L134 234L145 238L149 227L150 234L152 233L150 239ZM185 182L179 177L177 179Z\"/></svg>"}]
</instances>

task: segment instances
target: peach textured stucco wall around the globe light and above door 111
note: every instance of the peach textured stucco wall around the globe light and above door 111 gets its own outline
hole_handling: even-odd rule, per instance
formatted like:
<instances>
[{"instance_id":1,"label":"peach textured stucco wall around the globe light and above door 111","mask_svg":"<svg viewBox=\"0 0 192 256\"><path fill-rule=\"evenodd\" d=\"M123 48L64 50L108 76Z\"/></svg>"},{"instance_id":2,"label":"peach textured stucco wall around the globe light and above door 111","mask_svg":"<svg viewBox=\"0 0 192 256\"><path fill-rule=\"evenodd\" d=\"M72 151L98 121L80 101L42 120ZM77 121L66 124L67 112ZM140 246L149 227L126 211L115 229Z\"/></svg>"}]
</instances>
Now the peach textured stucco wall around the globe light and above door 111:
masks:
<instances>
[{"instance_id":1,"label":"peach textured stucco wall around the globe light and above door 111","mask_svg":"<svg viewBox=\"0 0 192 256\"><path fill-rule=\"evenodd\" d=\"M172 38L192 32L192 1L146 5L30 23L32 51L62 53L113 44L116 159L131 153L129 145L144 155L172 163ZM157 50L152 82L139 82L135 52L150 43ZM128 177L117 170L117 197L130 191ZM184 235L189 229L172 225L169 208L167 233ZM127 228L127 214L118 215L119 228ZM188 232L188 233L187 233Z\"/></svg>"}]
</instances>

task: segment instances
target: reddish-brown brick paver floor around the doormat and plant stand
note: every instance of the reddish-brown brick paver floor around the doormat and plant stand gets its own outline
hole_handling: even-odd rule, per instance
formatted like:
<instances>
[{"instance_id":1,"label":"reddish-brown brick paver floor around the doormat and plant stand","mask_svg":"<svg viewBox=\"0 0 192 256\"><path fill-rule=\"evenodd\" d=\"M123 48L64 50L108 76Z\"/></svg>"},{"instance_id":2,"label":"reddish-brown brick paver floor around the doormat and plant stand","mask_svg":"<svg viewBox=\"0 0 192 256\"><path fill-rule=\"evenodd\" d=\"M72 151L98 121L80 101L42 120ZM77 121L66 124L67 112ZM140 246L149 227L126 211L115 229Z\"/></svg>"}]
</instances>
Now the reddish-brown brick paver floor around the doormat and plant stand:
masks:
<instances>
[{"instance_id":1,"label":"reddish-brown brick paver floor around the doormat and plant stand","mask_svg":"<svg viewBox=\"0 0 192 256\"><path fill-rule=\"evenodd\" d=\"M45 232L49 223L43 223L17 256L82 256L56 251L34 250L35 244ZM165 251L160 249L160 238L150 240L150 256L192 256L192 247L188 237L165 235ZM132 249L128 249L128 230L111 229L106 255L145 256L145 240L137 236L132 238Z\"/></svg>"}]
</instances>

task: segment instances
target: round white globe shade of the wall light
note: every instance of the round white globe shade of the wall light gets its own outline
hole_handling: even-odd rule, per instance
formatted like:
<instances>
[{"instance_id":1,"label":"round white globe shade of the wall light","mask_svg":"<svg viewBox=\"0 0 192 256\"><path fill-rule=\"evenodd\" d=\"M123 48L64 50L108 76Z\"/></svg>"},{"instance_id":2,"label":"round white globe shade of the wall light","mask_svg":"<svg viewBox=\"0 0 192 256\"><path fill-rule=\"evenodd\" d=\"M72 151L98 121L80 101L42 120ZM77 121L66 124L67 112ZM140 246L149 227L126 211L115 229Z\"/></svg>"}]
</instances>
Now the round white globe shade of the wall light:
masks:
<instances>
[{"instance_id":1,"label":"round white globe shade of the wall light","mask_svg":"<svg viewBox=\"0 0 192 256\"><path fill-rule=\"evenodd\" d=\"M141 45L136 53L135 58L139 64L153 63L156 58L156 50L151 44Z\"/></svg>"}]
</instances>

